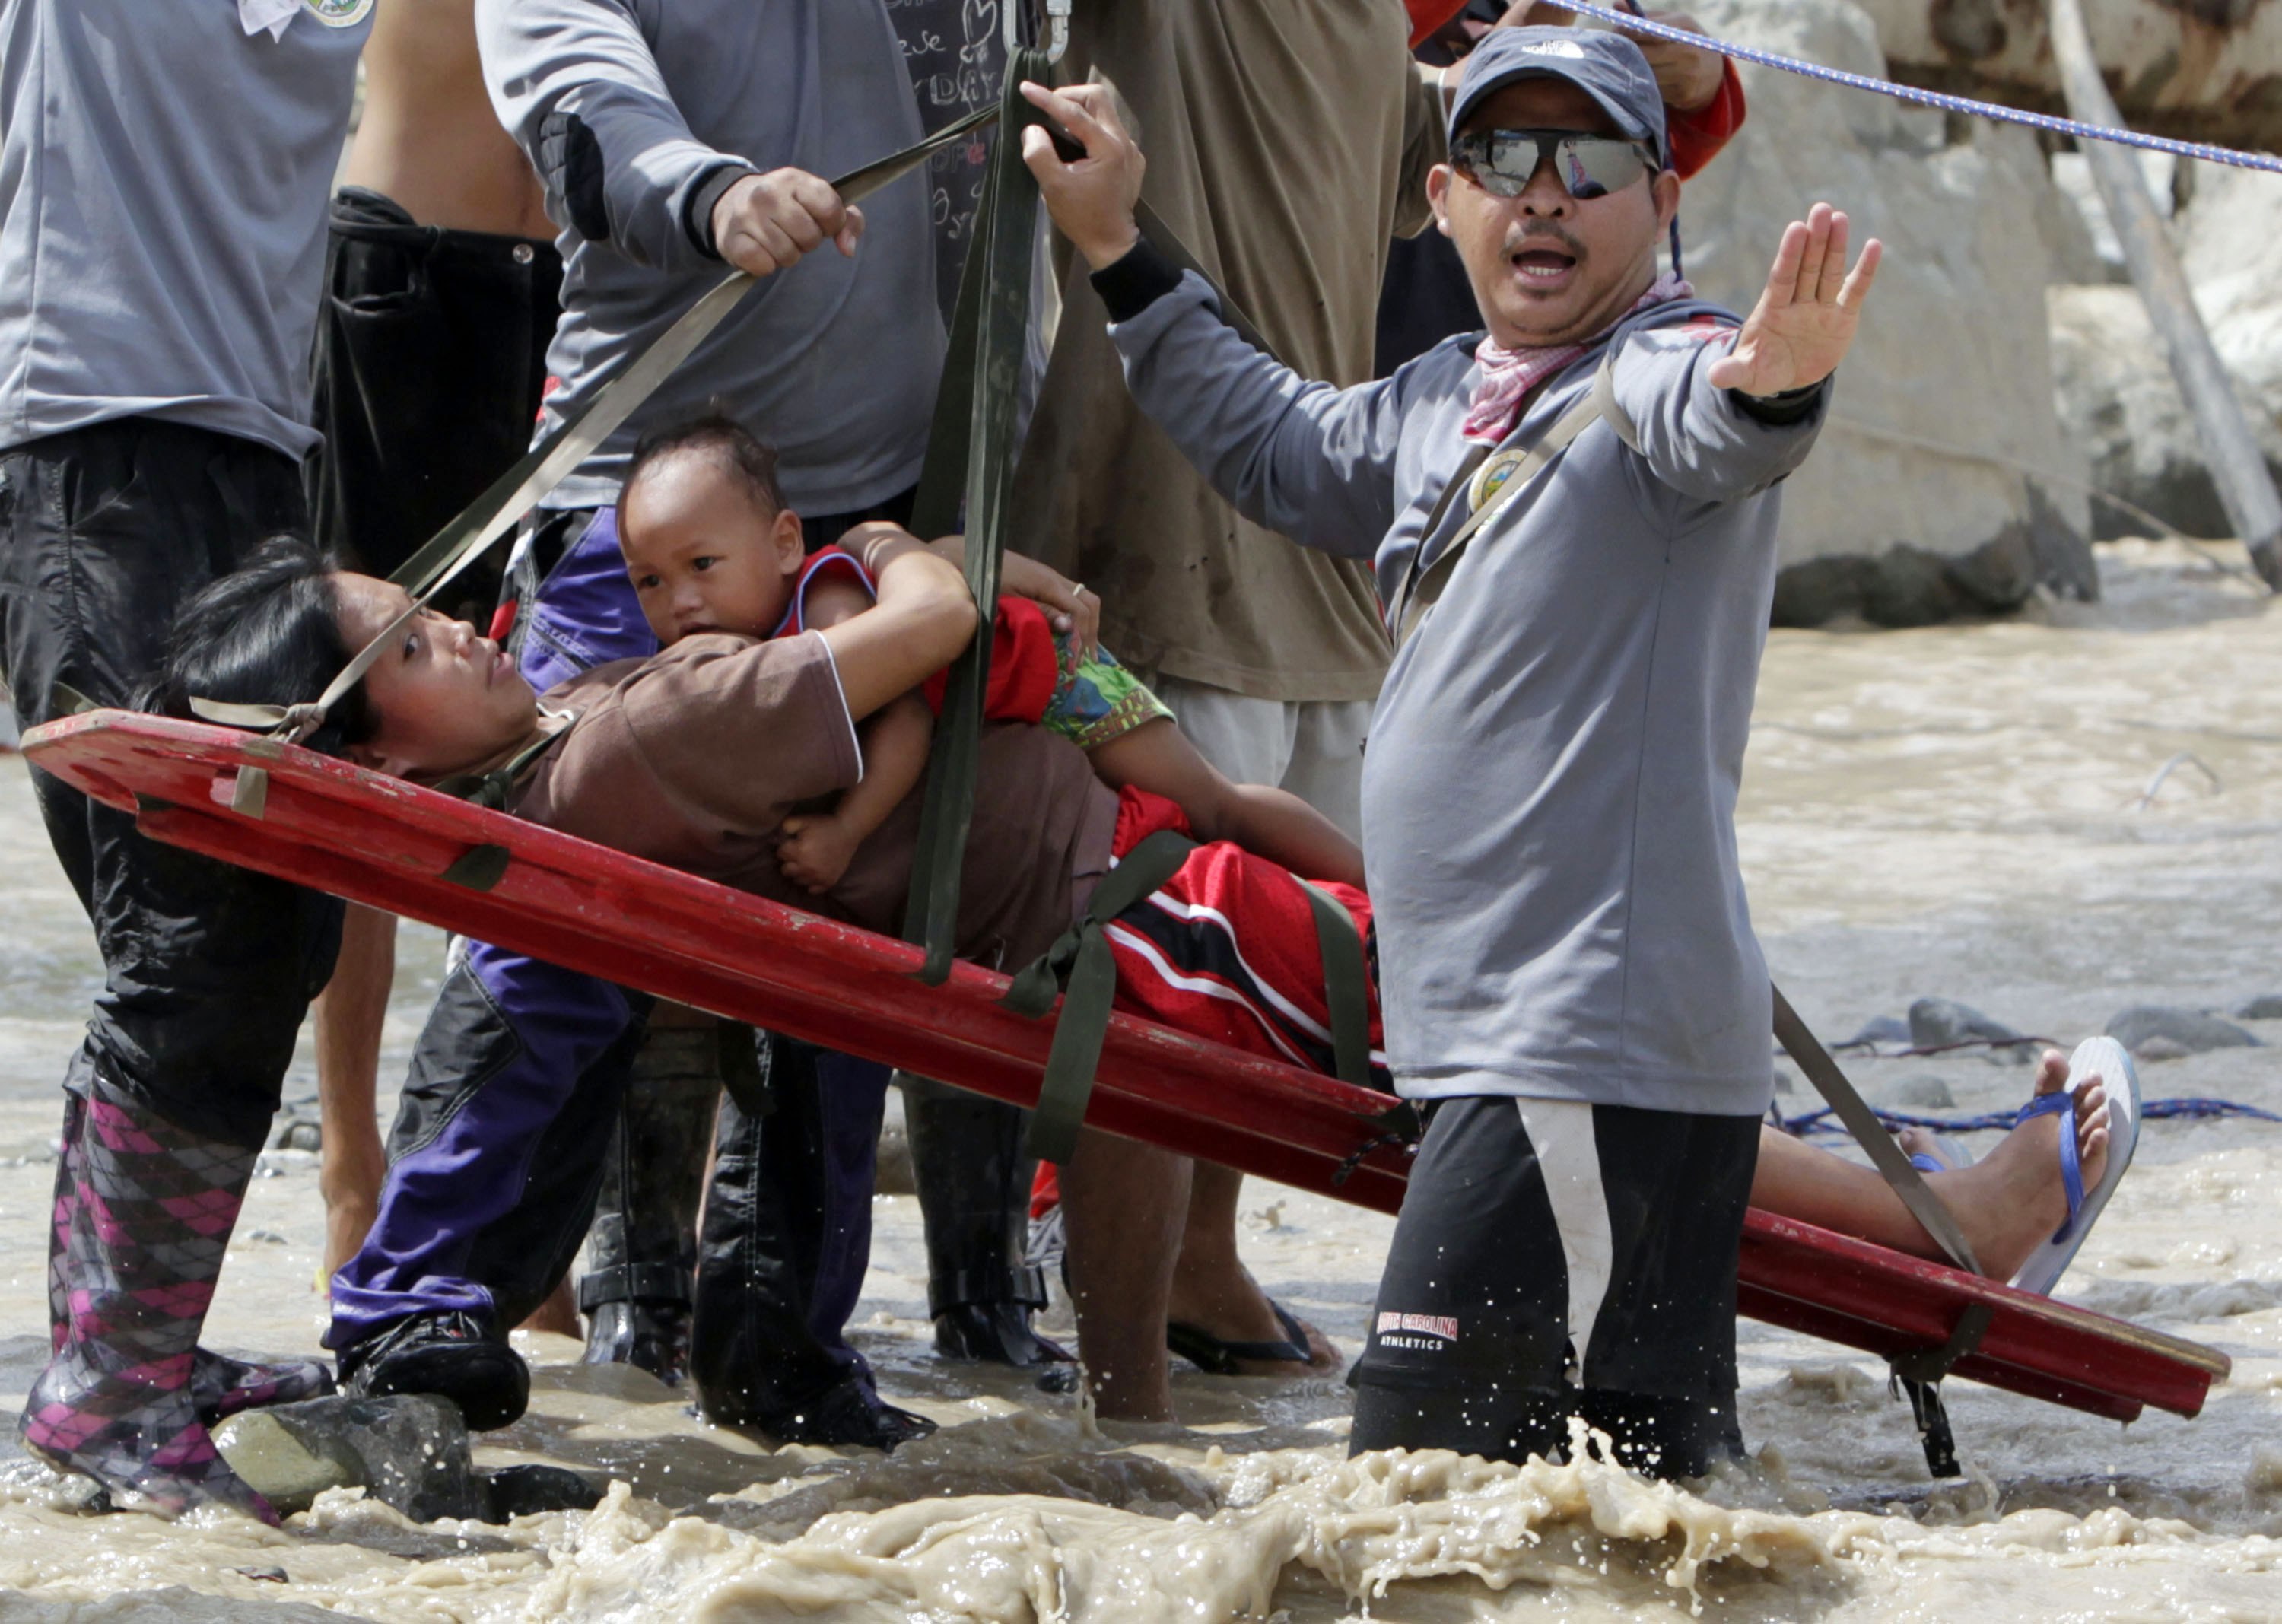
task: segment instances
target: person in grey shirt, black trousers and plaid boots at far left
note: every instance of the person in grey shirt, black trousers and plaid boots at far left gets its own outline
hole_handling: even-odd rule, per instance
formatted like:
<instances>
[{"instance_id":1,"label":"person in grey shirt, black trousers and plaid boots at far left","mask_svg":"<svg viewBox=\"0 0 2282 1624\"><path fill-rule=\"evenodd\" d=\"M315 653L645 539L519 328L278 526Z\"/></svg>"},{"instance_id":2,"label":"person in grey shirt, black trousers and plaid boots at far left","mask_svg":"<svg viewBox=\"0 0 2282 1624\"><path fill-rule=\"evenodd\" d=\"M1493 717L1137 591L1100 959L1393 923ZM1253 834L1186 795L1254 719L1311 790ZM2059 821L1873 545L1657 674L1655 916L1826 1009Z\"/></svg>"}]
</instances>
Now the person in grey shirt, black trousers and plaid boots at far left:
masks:
<instances>
[{"instance_id":1,"label":"person in grey shirt, black trousers and plaid boots at far left","mask_svg":"<svg viewBox=\"0 0 2282 1624\"><path fill-rule=\"evenodd\" d=\"M372 0L0 0L0 607L23 725L137 703L180 600L306 529L324 198ZM103 951L25 1446L276 1521L208 1428L331 1385L199 1348L340 903L32 773Z\"/></svg>"}]
</instances>

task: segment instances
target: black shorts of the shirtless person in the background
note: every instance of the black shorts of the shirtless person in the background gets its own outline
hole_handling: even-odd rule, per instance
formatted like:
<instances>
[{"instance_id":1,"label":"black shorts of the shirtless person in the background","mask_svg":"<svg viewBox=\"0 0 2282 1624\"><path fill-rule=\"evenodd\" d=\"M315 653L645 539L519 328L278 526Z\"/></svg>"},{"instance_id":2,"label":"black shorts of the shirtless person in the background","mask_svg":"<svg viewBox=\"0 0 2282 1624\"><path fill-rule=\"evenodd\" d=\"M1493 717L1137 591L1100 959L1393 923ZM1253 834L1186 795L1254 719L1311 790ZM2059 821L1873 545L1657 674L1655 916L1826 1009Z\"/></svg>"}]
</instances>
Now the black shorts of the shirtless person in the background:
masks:
<instances>
[{"instance_id":1,"label":"black shorts of the shirtless person in the background","mask_svg":"<svg viewBox=\"0 0 2282 1624\"><path fill-rule=\"evenodd\" d=\"M313 363L324 449L308 468L322 545L388 575L523 456L561 281L548 242L415 226L365 187L333 198ZM504 557L440 607L488 625Z\"/></svg>"}]
</instances>

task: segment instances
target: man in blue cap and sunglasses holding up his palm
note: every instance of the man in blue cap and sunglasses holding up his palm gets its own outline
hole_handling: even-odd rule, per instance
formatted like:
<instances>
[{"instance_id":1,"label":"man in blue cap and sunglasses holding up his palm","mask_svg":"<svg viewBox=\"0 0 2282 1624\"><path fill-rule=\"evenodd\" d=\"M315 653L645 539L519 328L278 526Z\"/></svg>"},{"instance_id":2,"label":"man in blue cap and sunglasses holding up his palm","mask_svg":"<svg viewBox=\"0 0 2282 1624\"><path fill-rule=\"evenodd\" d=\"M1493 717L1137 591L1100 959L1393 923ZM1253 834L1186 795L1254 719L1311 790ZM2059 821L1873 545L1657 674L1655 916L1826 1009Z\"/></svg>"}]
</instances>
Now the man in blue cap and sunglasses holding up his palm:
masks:
<instances>
[{"instance_id":1,"label":"man in blue cap and sunglasses holding up his palm","mask_svg":"<svg viewBox=\"0 0 2282 1624\"><path fill-rule=\"evenodd\" d=\"M1141 155L1100 91L1029 94L1086 146L1063 164L1038 130L1025 157L1143 411L1255 522L1374 559L1401 639L1362 848L1390 1070L1429 1127L1353 1448L1554 1457L1581 1416L1634 1467L1700 1473L1739 1439L1737 1245L1773 1093L1734 798L1775 486L1878 244L1848 271L1816 203L1748 322L1693 301L1657 274L1680 182L1638 46L1502 30L1429 180L1488 333L1335 390L1139 239ZM1150 1177L1102 1216L1141 1229ZM1114 1245L1091 1216L1070 1209L1073 1250Z\"/></svg>"}]
</instances>

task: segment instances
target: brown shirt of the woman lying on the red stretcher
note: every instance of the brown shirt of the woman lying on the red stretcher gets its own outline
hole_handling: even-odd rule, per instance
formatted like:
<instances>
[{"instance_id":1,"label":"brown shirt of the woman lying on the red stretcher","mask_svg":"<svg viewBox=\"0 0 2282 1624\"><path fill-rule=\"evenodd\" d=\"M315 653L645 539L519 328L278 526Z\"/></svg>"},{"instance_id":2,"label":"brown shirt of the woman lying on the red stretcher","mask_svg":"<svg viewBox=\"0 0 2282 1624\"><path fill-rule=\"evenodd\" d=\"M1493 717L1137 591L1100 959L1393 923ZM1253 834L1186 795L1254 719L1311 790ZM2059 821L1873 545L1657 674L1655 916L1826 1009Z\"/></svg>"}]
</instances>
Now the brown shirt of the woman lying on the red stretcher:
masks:
<instances>
[{"instance_id":1,"label":"brown shirt of the woman lying on the red stretcher","mask_svg":"<svg viewBox=\"0 0 2282 1624\"><path fill-rule=\"evenodd\" d=\"M924 785L826 896L776 867L785 814L863 778L822 636L691 636L653 659L596 666L548 705L577 723L509 805L518 817L867 931L904 928ZM1077 746L1029 725L984 730L961 958L1020 965L1043 953L1109 869L1116 810Z\"/></svg>"}]
</instances>

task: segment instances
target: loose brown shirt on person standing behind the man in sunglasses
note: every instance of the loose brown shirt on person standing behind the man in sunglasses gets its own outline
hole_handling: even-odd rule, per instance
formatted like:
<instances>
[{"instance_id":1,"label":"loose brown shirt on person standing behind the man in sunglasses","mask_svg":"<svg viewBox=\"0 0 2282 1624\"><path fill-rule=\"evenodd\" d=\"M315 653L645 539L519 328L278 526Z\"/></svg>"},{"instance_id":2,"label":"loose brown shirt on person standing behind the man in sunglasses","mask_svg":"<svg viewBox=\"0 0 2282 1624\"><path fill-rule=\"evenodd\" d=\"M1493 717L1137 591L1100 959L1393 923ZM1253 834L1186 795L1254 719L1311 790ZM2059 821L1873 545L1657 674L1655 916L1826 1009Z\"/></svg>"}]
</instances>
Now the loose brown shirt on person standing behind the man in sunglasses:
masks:
<instances>
[{"instance_id":1,"label":"loose brown shirt on person standing behind the man in sunglasses","mask_svg":"<svg viewBox=\"0 0 2282 1624\"><path fill-rule=\"evenodd\" d=\"M1440 121L1406 39L1399 0L1118 0L1070 23L1063 73L1116 84L1150 205L1310 379L1371 376L1387 242L1426 219ZM1066 255L1013 547L1095 588L1132 666L1374 698L1387 641L1367 566L1239 520L1125 392L1107 319Z\"/></svg>"}]
</instances>

